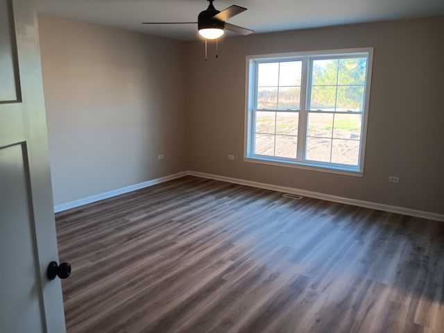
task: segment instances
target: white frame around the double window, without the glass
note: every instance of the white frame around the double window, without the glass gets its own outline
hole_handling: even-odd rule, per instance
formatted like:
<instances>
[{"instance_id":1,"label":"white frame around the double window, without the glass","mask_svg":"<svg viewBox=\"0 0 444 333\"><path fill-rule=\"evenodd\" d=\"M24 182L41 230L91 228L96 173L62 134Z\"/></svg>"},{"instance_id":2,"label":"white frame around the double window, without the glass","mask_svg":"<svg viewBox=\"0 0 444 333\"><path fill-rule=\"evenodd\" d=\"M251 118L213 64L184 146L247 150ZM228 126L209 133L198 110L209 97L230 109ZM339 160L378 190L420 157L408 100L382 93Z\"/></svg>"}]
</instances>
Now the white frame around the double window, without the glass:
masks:
<instances>
[{"instance_id":1,"label":"white frame around the double window, without the glass","mask_svg":"<svg viewBox=\"0 0 444 333\"><path fill-rule=\"evenodd\" d=\"M311 73L308 73L308 64L313 58L323 57L353 57L366 56L366 81L364 85L363 121L361 126L361 139L359 148L359 162L357 166L347 164L334 164L331 162L307 161L303 159L290 159L285 157L275 157L269 155L255 155L253 152L254 128L255 128L255 103L257 96L257 64L261 62L282 62L289 60L302 60L302 77L300 87L300 110L298 124L298 156L305 158L305 144L307 142L307 114L313 110L307 110L309 101L307 88L311 87ZM373 47L359 49L336 49L326 51L307 51L291 53L273 53L265 55L255 55L246 57L246 112L245 112L245 135L244 135L244 161L261 164L271 164L280 167L293 167L314 171L339 173L349 176L364 176L364 157L366 151L368 110L370 103L371 73L373 65ZM284 110L271 110L284 111ZM301 138L301 139L300 139Z\"/></svg>"}]
</instances>

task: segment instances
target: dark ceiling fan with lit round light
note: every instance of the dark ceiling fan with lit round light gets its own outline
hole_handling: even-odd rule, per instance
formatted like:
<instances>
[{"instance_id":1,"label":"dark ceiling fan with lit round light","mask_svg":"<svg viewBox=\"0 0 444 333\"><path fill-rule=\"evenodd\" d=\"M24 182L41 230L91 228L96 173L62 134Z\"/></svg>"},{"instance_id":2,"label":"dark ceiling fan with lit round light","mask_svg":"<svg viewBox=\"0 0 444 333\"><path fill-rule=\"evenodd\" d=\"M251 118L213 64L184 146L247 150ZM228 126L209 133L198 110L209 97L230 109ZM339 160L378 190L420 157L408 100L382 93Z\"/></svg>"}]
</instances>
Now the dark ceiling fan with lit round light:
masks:
<instances>
[{"instance_id":1,"label":"dark ceiling fan with lit round light","mask_svg":"<svg viewBox=\"0 0 444 333\"><path fill-rule=\"evenodd\" d=\"M241 35L248 35L254 32L253 30L225 22L227 19L244 12L247 8L232 5L219 11L213 6L214 0L207 1L210 1L210 6L208 6L207 10L200 12L197 22L142 22L142 24L197 24L199 34L207 40L215 40L221 37L224 30Z\"/></svg>"}]
</instances>

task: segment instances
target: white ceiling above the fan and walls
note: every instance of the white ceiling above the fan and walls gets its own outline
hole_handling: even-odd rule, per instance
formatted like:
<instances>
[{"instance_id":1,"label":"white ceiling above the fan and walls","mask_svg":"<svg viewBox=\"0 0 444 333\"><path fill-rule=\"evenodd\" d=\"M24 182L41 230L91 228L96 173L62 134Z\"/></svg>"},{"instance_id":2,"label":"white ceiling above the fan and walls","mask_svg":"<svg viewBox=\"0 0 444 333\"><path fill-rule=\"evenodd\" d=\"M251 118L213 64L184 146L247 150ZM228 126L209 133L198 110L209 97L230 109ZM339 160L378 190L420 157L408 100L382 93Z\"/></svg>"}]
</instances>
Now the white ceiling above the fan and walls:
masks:
<instances>
[{"instance_id":1,"label":"white ceiling above the fan and walls","mask_svg":"<svg viewBox=\"0 0 444 333\"><path fill-rule=\"evenodd\" d=\"M255 33L444 15L444 0L215 0L248 10L228 22ZM148 25L142 22L197 22L206 0L37 0L43 15L114 26L151 35L197 40L197 24Z\"/></svg>"}]
</instances>

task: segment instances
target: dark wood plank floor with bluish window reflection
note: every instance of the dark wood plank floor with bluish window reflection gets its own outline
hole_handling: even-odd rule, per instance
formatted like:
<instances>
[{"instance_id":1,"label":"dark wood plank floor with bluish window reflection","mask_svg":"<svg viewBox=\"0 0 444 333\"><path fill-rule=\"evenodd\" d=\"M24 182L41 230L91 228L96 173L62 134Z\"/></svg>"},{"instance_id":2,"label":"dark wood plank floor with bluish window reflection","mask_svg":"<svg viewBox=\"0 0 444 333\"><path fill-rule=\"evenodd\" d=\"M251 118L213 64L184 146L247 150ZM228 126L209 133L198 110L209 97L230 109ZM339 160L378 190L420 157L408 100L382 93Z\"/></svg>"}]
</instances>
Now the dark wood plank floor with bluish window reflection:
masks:
<instances>
[{"instance_id":1,"label":"dark wood plank floor with bluish window reflection","mask_svg":"<svg viewBox=\"0 0 444 333\"><path fill-rule=\"evenodd\" d=\"M69 333L444 332L444 223L187 176L56 214Z\"/></svg>"}]
</instances>

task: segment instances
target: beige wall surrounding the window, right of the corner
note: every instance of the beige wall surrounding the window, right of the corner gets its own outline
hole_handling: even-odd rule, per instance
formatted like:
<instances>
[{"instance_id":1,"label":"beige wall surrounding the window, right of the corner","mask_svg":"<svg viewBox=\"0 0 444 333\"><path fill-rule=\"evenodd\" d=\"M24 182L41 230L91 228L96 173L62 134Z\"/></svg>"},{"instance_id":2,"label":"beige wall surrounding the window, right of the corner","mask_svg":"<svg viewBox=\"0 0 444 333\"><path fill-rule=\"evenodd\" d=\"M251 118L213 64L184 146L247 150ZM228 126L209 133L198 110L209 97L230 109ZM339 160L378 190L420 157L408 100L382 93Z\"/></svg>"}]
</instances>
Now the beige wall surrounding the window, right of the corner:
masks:
<instances>
[{"instance_id":1,"label":"beige wall surrounding the window, right of the corner","mask_svg":"<svg viewBox=\"0 0 444 333\"><path fill-rule=\"evenodd\" d=\"M225 38L219 60L207 62L203 43L189 44L189 169L443 214L443 31L438 17ZM364 177L244 162L246 56L367 46L375 53Z\"/></svg>"}]
</instances>

